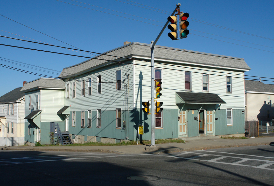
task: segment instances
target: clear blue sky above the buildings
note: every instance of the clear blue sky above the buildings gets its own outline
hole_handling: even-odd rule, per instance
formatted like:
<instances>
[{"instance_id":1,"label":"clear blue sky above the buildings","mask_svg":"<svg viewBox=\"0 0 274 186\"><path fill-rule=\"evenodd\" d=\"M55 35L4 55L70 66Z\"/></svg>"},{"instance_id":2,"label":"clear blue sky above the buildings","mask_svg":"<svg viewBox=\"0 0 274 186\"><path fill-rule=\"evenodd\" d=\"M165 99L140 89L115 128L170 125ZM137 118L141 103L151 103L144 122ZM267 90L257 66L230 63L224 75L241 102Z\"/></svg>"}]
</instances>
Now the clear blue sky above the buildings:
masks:
<instances>
[{"instance_id":1,"label":"clear blue sky above the buildings","mask_svg":"<svg viewBox=\"0 0 274 186\"><path fill-rule=\"evenodd\" d=\"M1 1L0 35L103 53L125 41L155 40L178 3L180 11L190 15L190 33L172 41L166 28L157 45L244 58L251 68L246 75L274 78L274 1ZM94 57L4 37L0 44ZM64 67L86 59L0 45L1 65L46 76L58 77ZM0 96L41 77L2 66L0 74ZM264 83L274 84L274 79L266 78L262 80L270 81Z\"/></svg>"}]
</instances>

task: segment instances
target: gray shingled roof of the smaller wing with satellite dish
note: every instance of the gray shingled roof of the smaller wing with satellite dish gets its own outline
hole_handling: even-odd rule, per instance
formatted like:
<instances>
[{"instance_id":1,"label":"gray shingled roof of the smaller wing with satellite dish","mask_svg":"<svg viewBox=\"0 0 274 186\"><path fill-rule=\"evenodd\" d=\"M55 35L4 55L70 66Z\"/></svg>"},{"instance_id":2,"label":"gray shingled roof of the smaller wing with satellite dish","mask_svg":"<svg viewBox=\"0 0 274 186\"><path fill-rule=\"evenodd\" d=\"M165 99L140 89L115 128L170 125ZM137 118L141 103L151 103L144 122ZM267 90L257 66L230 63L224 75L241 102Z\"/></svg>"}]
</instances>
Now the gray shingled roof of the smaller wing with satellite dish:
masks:
<instances>
[{"instance_id":1,"label":"gray shingled roof of the smaller wing with satellite dish","mask_svg":"<svg viewBox=\"0 0 274 186\"><path fill-rule=\"evenodd\" d=\"M65 83L62 79L39 78L30 82L26 82L21 91L27 92L39 88L65 89Z\"/></svg>"}]
</instances>

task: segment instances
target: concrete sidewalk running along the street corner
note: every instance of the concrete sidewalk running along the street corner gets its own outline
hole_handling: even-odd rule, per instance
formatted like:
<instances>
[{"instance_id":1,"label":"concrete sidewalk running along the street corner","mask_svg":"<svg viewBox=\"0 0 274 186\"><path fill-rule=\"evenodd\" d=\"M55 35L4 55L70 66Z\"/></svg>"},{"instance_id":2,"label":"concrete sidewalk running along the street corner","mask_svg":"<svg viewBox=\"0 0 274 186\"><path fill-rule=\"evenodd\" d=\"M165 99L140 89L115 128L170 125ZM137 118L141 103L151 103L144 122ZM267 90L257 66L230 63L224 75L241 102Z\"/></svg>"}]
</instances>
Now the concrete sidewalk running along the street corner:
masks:
<instances>
[{"instance_id":1,"label":"concrete sidewalk running along the street corner","mask_svg":"<svg viewBox=\"0 0 274 186\"><path fill-rule=\"evenodd\" d=\"M0 150L36 150L36 151L70 151L70 152L102 152L102 153L172 153L181 151L218 149L228 147L243 147L256 145L274 144L274 137L258 137L248 139L196 139L188 138L185 143L164 143L156 144L156 148L150 148L147 145L129 145L129 146L46 146L46 147L0 147Z\"/></svg>"}]
</instances>

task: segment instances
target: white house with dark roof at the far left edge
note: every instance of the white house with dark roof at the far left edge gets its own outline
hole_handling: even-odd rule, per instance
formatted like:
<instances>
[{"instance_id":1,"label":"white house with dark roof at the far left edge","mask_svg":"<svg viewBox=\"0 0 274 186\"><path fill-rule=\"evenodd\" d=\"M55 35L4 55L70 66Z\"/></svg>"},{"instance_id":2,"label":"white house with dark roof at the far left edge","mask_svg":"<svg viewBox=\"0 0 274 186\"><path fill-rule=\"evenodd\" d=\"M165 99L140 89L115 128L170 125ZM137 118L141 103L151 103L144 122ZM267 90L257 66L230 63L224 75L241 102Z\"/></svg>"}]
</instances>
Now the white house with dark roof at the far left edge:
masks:
<instances>
[{"instance_id":1,"label":"white house with dark roof at the far left edge","mask_svg":"<svg viewBox=\"0 0 274 186\"><path fill-rule=\"evenodd\" d=\"M21 88L0 97L0 137L24 137L25 95Z\"/></svg>"}]
</instances>

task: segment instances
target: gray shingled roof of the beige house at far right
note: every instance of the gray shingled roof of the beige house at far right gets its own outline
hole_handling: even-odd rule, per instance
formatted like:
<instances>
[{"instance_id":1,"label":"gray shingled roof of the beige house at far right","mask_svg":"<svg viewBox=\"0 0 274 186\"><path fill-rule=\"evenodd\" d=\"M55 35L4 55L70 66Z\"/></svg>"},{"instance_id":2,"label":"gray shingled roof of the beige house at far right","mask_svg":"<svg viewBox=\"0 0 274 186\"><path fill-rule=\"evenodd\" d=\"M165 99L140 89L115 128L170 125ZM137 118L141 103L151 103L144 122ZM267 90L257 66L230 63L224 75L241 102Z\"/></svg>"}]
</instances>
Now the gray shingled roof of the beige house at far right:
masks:
<instances>
[{"instance_id":1,"label":"gray shingled roof of the beige house at far right","mask_svg":"<svg viewBox=\"0 0 274 186\"><path fill-rule=\"evenodd\" d=\"M273 92L274 85L264 84L260 81L244 80L244 90L250 92Z\"/></svg>"}]
</instances>

